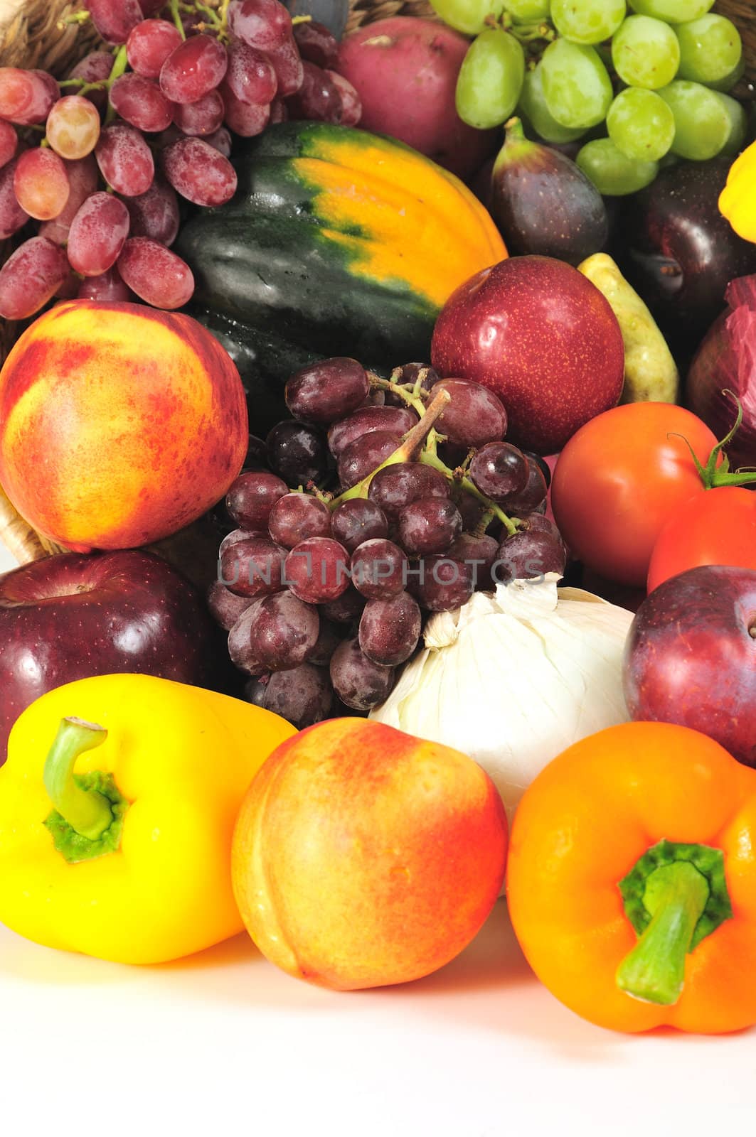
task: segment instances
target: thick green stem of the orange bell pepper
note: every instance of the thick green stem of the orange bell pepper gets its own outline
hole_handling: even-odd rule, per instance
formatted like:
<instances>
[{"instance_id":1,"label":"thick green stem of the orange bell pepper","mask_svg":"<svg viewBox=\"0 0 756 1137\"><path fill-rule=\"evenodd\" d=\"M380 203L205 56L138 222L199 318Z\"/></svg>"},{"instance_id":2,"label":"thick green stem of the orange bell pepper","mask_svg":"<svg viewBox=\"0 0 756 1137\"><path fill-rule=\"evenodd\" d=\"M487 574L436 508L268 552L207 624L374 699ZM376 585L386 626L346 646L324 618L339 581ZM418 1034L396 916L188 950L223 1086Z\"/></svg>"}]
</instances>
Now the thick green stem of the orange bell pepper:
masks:
<instances>
[{"instance_id":1,"label":"thick green stem of the orange bell pepper","mask_svg":"<svg viewBox=\"0 0 756 1137\"><path fill-rule=\"evenodd\" d=\"M648 878L643 903L651 921L617 968L617 986L644 1003L673 1006L685 956L709 898L706 877L689 861L662 865Z\"/></svg>"}]
</instances>

